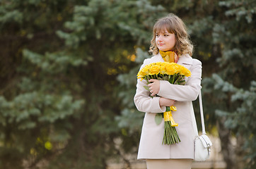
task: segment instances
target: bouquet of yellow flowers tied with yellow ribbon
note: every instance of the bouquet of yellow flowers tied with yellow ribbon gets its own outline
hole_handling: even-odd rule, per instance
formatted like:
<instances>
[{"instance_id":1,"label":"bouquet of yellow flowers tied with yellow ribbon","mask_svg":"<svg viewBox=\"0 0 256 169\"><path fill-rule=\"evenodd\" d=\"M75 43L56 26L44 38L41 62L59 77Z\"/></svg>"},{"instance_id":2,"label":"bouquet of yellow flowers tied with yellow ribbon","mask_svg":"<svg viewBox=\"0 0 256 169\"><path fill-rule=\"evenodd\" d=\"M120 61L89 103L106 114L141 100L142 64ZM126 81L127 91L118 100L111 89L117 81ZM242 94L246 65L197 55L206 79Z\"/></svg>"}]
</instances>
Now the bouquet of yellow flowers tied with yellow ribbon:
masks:
<instances>
[{"instance_id":1,"label":"bouquet of yellow flowers tied with yellow ribbon","mask_svg":"<svg viewBox=\"0 0 256 169\"><path fill-rule=\"evenodd\" d=\"M183 65L177 63L169 62L157 62L146 65L142 68L137 78L141 80L146 80L149 84L149 80L167 80L170 84L185 84L185 77L191 75L190 70L185 68ZM149 90L148 86L144 86L145 89ZM156 113L155 121L159 125L164 118L165 130L163 134L163 144L175 144L180 142L180 138L175 127L178 126L173 120L173 115L171 111L177 111L175 106L166 107L164 113Z\"/></svg>"}]
</instances>

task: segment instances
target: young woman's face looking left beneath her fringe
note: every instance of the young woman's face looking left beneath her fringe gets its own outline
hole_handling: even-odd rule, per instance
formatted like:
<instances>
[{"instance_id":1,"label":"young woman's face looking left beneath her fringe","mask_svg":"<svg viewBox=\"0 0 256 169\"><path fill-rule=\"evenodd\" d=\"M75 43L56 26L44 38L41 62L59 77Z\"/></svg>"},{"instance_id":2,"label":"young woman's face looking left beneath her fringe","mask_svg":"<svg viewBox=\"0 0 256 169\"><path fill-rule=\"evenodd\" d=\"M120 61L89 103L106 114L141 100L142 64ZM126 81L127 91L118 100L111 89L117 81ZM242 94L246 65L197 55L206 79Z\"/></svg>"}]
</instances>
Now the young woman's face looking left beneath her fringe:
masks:
<instances>
[{"instance_id":1,"label":"young woman's face looking left beneath her fringe","mask_svg":"<svg viewBox=\"0 0 256 169\"><path fill-rule=\"evenodd\" d=\"M156 32L156 46L161 51L170 51L175 46L175 35L169 33L166 28L160 32Z\"/></svg>"}]
</instances>

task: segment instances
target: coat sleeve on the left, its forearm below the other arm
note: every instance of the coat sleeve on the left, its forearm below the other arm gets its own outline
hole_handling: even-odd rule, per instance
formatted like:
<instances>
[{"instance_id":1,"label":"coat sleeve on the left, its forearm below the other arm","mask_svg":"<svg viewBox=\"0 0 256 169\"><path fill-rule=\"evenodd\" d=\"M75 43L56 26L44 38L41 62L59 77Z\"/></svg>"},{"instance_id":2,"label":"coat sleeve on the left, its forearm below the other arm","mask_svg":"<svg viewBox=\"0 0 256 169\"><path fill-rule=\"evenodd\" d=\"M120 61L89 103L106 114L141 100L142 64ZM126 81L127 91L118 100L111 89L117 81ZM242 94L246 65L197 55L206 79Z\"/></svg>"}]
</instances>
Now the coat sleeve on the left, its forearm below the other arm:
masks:
<instances>
[{"instance_id":1,"label":"coat sleeve on the left, its forearm below the other arm","mask_svg":"<svg viewBox=\"0 0 256 169\"><path fill-rule=\"evenodd\" d=\"M146 65L146 60L141 68ZM134 104L138 111L148 112L148 113L163 113L165 112L165 106L159 105L160 97L151 97L150 92L144 88L146 86L146 80L137 80L136 84L136 94L134 96Z\"/></svg>"}]
</instances>

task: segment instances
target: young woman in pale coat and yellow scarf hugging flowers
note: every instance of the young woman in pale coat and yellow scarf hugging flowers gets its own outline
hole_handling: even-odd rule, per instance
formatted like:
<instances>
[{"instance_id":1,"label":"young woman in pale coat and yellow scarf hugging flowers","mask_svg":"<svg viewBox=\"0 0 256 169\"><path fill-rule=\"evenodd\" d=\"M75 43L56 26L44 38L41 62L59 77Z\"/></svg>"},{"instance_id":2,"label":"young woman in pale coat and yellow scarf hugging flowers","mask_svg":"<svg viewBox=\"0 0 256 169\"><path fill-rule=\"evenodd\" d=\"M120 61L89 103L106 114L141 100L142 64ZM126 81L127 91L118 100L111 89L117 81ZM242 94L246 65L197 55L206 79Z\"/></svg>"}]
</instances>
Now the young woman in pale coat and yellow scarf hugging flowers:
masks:
<instances>
[{"instance_id":1,"label":"young woman in pale coat and yellow scarf hugging flowers","mask_svg":"<svg viewBox=\"0 0 256 169\"><path fill-rule=\"evenodd\" d=\"M194 159L194 137L197 136L192 101L197 99L201 89L202 63L192 58L193 46L187 35L185 24L177 15L171 13L159 19L153 26L153 39L150 51L152 58L147 58L141 68L156 62L175 62L188 68L192 75L186 77L185 85L170 84L165 80L150 80L150 92L144 88L146 80L138 80L134 103L139 111L146 112L141 130L138 159L146 159L148 169L191 168ZM175 55L171 56L170 51ZM157 96L155 97L151 97ZM173 118L181 142L162 144L164 120L155 123L156 113L165 112L166 106L176 106ZM195 127L197 128L197 127Z\"/></svg>"}]
</instances>

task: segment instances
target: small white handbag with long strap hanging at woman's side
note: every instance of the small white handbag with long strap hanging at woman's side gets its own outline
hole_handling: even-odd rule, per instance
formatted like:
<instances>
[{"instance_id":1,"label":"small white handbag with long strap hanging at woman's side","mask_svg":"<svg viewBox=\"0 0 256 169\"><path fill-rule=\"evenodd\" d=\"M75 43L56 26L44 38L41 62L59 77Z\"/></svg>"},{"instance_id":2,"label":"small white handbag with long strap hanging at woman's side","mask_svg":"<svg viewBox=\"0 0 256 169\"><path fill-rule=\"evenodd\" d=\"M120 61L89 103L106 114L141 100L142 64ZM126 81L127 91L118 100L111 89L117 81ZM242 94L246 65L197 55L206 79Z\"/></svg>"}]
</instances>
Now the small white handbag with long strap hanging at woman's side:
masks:
<instances>
[{"instance_id":1,"label":"small white handbag with long strap hanging at woman's side","mask_svg":"<svg viewBox=\"0 0 256 169\"><path fill-rule=\"evenodd\" d=\"M194 161L205 161L210 157L212 143L205 132L201 91L199 93L199 106L202 122L202 135L197 135L197 137L194 139Z\"/></svg>"}]
</instances>

